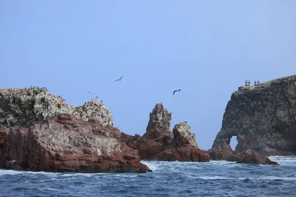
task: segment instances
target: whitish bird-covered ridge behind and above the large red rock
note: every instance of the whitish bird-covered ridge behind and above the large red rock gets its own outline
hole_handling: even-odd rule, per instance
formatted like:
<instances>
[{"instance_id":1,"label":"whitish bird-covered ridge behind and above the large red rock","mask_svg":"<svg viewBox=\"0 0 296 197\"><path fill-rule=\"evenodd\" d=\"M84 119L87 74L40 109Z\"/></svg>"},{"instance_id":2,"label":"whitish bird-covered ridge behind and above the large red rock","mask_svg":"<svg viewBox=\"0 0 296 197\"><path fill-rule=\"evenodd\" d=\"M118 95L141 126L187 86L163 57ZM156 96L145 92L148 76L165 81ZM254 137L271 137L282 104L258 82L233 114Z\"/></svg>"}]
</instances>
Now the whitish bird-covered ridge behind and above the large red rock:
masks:
<instances>
[{"instance_id":1,"label":"whitish bird-covered ridge behind and above the large red rock","mask_svg":"<svg viewBox=\"0 0 296 197\"><path fill-rule=\"evenodd\" d=\"M48 93L44 87L0 89L0 128L29 127L59 113L113 125L111 112L98 99L74 106L67 105L60 96Z\"/></svg>"}]
</instances>

